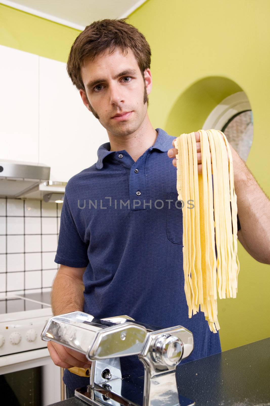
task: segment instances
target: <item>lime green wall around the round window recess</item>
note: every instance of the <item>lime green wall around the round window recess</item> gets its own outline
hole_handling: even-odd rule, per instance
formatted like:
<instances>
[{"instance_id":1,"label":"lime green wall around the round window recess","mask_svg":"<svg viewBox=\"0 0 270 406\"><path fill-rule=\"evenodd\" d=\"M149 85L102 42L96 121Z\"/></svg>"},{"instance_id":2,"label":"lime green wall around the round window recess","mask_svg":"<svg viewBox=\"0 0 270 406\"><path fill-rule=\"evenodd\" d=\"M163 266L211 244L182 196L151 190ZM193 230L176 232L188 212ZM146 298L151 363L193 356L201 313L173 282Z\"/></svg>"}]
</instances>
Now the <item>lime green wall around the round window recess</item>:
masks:
<instances>
[{"instance_id":1,"label":"lime green wall around the round window recess","mask_svg":"<svg viewBox=\"0 0 270 406\"><path fill-rule=\"evenodd\" d=\"M247 165L270 194L270 2L148 0L130 15L152 50L149 117L169 134L198 131L225 97L244 91L253 111ZM80 31L0 4L0 44L67 61ZM218 299L222 350L270 336L270 267L238 242L235 299Z\"/></svg>"}]
</instances>

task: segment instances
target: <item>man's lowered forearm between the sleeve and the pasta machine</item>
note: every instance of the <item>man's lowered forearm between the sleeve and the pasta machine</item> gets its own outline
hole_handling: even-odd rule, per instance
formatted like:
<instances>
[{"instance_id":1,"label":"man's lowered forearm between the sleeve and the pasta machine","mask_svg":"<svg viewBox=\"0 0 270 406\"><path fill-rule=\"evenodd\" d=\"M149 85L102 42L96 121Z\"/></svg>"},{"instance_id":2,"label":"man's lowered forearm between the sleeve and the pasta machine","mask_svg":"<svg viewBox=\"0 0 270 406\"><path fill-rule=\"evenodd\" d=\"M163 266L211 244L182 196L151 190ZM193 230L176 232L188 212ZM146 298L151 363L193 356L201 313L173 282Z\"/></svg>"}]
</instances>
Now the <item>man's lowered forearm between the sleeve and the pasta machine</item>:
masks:
<instances>
[{"instance_id":1,"label":"man's lowered forearm between the sleeve and the pasta machine","mask_svg":"<svg viewBox=\"0 0 270 406\"><path fill-rule=\"evenodd\" d=\"M83 281L58 271L51 290L53 315L83 310Z\"/></svg>"}]
</instances>

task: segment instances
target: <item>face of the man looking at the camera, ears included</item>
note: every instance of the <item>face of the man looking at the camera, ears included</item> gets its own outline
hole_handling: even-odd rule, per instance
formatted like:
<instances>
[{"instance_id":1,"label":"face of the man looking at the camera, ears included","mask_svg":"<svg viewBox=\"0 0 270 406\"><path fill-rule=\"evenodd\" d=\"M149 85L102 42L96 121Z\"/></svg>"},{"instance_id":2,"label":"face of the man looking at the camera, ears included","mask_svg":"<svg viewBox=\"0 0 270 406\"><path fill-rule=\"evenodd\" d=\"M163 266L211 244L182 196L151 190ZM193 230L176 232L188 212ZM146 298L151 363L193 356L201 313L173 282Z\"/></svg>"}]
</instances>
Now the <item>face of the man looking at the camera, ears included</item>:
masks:
<instances>
[{"instance_id":1,"label":"face of the man looking at the camera, ears included","mask_svg":"<svg viewBox=\"0 0 270 406\"><path fill-rule=\"evenodd\" d=\"M145 80L131 50L126 55L119 49L112 54L106 50L93 61L85 60L81 76L86 93L80 89L80 94L85 106L108 133L128 135L140 127L152 86L150 70L145 69L144 74ZM113 118L123 112L130 113L122 119Z\"/></svg>"}]
</instances>

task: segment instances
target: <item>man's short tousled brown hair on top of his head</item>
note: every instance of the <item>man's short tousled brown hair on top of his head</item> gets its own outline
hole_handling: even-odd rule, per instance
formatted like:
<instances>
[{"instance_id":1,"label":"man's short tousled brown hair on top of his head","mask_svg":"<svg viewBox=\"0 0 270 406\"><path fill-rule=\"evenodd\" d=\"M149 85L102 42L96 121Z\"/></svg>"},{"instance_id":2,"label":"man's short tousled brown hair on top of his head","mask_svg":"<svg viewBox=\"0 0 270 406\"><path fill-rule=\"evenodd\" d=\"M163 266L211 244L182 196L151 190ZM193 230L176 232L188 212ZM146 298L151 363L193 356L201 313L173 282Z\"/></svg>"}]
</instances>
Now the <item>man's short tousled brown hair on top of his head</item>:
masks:
<instances>
[{"instance_id":1,"label":"man's short tousled brown hair on top of his head","mask_svg":"<svg viewBox=\"0 0 270 406\"><path fill-rule=\"evenodd\" d=\"M145 36L133 25L125 22L126 18L103 19L94 21L75 39L68 56L67 71L77 89L85 87L81 78L81 66L86 58L94 58L105 52L110 53L120 48L122 53L132 50L144 78L145 69L150 69L151 49Z\"/></svg>"}]
</instances>

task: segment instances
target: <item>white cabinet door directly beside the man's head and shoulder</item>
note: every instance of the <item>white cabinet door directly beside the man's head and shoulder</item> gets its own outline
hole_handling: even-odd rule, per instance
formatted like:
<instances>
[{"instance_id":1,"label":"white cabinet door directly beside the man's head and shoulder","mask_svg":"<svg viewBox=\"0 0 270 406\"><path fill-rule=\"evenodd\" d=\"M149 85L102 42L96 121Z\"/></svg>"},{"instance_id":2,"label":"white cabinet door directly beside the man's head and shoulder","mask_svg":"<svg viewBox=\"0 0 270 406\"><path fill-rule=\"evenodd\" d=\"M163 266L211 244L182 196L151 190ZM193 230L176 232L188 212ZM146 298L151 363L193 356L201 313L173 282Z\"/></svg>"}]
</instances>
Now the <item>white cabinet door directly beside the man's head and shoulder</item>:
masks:
<instances>
[{"instance_id":1,"label":"white cabinet door directly beside the man's head and shoulder","mask_svg":"<svg viewBox=\"0 0 270 406\"><path fill-rule=\"evenodd\" d=\"M84 106L66 64L39 61L39 159L51 167L52 181L68 181L98 160L98 147L108 135Z\"/></svg>"}]
</instances>

